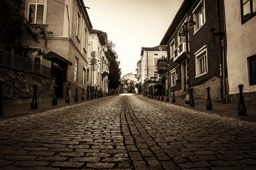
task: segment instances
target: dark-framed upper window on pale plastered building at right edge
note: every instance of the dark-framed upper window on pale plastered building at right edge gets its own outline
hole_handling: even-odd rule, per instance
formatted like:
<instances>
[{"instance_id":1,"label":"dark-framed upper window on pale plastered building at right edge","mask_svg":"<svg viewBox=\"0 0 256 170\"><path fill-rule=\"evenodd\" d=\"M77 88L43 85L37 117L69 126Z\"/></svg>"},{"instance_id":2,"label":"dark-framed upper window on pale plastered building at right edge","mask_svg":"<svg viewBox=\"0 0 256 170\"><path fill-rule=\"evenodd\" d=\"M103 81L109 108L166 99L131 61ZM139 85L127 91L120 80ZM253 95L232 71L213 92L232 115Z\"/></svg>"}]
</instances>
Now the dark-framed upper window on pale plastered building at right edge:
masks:
<instances>
[{"instance_id":1,"label":"dark-framed upper window on pale plastered building at right edge","mask_svg":"<svg viewBox=\"0 0 256 170\"><path fill-rule=\"evenodd\" d=\"M240 0L240 2L242 23L245 23L256 15L256 0Z\"/></svg>"}]
</instances>

